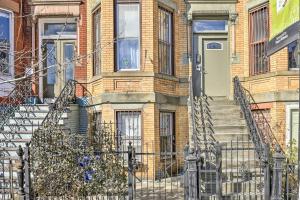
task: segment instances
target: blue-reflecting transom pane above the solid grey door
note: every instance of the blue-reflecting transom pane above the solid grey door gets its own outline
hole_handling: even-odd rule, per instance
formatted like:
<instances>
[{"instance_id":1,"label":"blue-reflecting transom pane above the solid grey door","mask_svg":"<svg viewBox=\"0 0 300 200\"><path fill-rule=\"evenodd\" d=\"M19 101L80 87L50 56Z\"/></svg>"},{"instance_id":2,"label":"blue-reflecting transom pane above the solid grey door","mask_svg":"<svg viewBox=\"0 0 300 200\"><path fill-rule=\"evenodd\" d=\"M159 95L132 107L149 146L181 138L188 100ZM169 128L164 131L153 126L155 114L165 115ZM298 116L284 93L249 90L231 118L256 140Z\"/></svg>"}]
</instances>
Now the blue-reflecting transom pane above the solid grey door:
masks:
<instances>
[{"instance_id":1,"label":"blue-reflecting transom pane above the solid grey door","mask_svg":"<svg viewBox=\"0 0 300 200\"><path fill-rule=\"evenodd\" d=\"M227 21L225 20L199 20L194 21L194 32L226 31Z\"/></svg>"}]
</instances>

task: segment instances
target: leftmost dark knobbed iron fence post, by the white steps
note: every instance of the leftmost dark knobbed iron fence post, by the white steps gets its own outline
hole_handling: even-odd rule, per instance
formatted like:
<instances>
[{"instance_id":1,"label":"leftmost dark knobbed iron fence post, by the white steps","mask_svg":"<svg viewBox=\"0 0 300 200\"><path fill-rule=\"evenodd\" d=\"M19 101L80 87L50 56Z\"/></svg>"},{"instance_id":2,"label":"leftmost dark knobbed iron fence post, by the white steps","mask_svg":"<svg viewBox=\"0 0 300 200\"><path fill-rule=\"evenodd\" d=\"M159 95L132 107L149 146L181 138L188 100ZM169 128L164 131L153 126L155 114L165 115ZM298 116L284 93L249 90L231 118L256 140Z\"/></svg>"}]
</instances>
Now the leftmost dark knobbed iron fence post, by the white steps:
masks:
<instances>
[{"instance_id":1,"label":"leftmost dark knobbed iron fence post, by the white steps","mask_svg":"<svg viewBox=\"0 0 300 200\"><path fill-rule=\"evenodd\" d=\"M20 200L25 199L25 191L24 191L24 151L21 146L19 146L19 149L17 151L19 163L17 164L17 175L18 175L18 184L19 184L19 195Z\"/></svg>"}]
</instances>

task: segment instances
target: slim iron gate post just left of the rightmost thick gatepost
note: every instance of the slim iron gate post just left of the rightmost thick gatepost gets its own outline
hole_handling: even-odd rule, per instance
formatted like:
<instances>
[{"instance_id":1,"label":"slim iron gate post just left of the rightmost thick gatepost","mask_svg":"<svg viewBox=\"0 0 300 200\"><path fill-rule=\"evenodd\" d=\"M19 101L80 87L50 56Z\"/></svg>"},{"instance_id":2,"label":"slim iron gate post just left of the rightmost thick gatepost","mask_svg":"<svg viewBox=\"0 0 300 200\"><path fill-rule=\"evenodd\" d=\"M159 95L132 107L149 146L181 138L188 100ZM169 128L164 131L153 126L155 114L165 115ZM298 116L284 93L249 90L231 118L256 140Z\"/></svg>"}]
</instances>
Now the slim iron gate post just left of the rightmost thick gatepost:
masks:
<instances>
[{"instance_id":1,"label":"slim iron gate post just left of the rightmost thick gatepost","mask_svg":"<svg viewBox=\"0 0 300 200\"><path fill-rule=\"evenodd\" d=\"M265 199L270 199L270 193L271 193L269 158L270 158L270 146L268 144L265 144L264 145L264 157L263 157Z\"/></svg>"}]
</instances>

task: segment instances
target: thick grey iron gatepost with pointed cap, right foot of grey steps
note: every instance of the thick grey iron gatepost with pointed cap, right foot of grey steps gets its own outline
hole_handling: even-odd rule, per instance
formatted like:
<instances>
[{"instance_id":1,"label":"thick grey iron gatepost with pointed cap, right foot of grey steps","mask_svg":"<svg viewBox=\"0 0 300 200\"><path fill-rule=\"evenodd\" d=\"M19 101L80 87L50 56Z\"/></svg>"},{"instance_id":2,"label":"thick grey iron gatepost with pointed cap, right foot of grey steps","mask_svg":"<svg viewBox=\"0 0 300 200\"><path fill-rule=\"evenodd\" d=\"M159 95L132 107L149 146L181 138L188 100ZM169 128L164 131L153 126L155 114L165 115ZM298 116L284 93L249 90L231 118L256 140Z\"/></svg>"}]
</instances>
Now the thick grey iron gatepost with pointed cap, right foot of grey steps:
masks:
<instances>
[{"instance_id":1,"label":"thick grey iron gatepost with pointed cap, right foot of grey steps","mask_svg":"<svg viewBox=\"0 0 300 200\"><path fill-rule=\"evenodd\" d=\"M284 156L282 155L280 148L276 146L276 150L273 156L274 159L274 172L273 172L273 183L272 183L272 200L282 199L282 171Z\"/></svg>"}]
</instances>

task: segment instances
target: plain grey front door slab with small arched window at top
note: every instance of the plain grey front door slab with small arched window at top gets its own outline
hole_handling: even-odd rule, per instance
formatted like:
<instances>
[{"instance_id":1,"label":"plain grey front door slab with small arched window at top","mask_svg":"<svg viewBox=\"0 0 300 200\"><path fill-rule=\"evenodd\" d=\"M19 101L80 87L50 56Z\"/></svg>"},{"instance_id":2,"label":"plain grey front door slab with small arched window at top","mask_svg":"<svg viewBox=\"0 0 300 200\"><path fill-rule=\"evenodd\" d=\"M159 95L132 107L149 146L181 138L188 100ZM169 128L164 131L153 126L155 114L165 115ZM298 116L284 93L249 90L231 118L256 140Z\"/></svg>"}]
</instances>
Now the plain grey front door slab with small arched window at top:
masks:
<instances>
[{"instance_id":1,"label":"plain grey front door slab with small arched window at top","mask_svg":"<svg viewBox=\"0 0 300 200\"><path fill-rule=\"evenodd\" d=\"M227 39L202 40L204 91L209 96L228 96L230 86Z\"/></svg>"}]
</instances>

